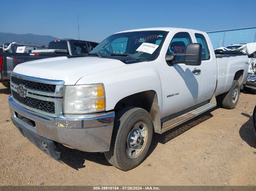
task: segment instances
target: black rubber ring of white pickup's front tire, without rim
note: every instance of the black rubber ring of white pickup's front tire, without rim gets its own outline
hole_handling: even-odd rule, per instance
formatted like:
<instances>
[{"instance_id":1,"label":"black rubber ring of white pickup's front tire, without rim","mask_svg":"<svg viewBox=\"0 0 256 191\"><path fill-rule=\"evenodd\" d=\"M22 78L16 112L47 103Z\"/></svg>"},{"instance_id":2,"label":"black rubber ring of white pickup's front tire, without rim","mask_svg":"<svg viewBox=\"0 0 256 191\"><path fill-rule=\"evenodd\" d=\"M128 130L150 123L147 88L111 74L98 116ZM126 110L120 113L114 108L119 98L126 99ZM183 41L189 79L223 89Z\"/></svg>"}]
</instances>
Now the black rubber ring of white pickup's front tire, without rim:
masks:
<instances>
[{"instance_id":1,"label":"black rubber ring of white pickup's front tire, without rim","mask_svg":"<svg viewBox=\"0 0 256 191\"><path fill-rule=\"evenodd\" d=\"M125 114L127 114L127 112ZM141 154L137 158L132 159L129 158L126 153L126 140L132 127L140 121L144 122L148 128L148 139L145 148L143 149ZM148 114L148 112L143 109L131 112L129 113L129 116L123 122L120 123L119 131L121 131L122 133L119 133L119 136L117 137L115 142L116 146L118 146L119 148L117 158L119 158L121 164L123 164L126 168L132 169L138 166L138 164L140 164L143 161L149 150L153 135L153 123L151 121L151 117Z\"/></svg>"}]
</instances>

